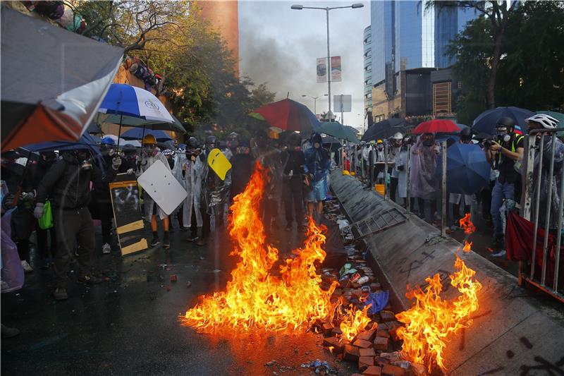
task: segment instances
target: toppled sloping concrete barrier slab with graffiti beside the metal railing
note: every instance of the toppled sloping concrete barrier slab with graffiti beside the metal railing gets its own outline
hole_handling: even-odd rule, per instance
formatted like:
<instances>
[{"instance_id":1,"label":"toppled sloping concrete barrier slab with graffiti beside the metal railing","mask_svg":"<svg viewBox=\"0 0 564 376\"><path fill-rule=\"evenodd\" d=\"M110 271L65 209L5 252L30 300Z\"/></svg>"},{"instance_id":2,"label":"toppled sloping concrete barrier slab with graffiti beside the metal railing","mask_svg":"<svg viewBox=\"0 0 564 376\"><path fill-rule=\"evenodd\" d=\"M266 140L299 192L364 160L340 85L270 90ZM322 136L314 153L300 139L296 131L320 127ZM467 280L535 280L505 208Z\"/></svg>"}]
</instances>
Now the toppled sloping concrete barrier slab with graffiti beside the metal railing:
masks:
<instances>
[{"instance_id":1,"label":"toppled sloping concrete barrier slab with graffiti beside the metal railing","mask_svg":"<svg viewBox=\"0 0 564 376\"><path fill-rule=\"evenodd\" d=\"M355 178L338 170L331 174L331 188L351 222L395 205L363 190ZM438 229L410 215L407 222L364 238L385 279L384 286L388 285L403 309L412 305L405 297L406 285L424 286L424 279L436 273L441 275L445 296L458 296L448 284L448 275L454 272L455 253L462 245L450 237L433 238L435 234ZM547 375L542 371L546 367L552 367L554 375L563 374L563 305L532 296L517 285L515 277L476 253L460 257L476 270L483 288L472 326L449 339L448 374Z\"/></svg>"}]
</instances>

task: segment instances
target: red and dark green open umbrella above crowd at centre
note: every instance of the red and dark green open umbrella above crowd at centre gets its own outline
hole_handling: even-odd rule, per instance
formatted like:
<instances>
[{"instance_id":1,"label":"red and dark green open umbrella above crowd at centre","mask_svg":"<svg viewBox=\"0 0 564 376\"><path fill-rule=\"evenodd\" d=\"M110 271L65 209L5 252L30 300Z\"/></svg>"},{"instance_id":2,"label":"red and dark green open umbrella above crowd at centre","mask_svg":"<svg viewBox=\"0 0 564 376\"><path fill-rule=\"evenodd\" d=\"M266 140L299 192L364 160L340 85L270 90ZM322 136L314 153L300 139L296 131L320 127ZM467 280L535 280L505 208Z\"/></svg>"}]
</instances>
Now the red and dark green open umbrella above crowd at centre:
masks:
<instances>
[{"instance_id":1,"label":"red and dark green open umbrella above crowd at centre","mask_svg":"<svg viewBox=\"0 0 564 376\"><path fill-rule=\"evenodd\" d=\"M301 131L312 133L319 127L319 120L314 113L304 104L292 99L266 104L252 111L249 116L259 120L267 121L270 126L280 128L283 131Z\"/></svg>"}]
</instances>

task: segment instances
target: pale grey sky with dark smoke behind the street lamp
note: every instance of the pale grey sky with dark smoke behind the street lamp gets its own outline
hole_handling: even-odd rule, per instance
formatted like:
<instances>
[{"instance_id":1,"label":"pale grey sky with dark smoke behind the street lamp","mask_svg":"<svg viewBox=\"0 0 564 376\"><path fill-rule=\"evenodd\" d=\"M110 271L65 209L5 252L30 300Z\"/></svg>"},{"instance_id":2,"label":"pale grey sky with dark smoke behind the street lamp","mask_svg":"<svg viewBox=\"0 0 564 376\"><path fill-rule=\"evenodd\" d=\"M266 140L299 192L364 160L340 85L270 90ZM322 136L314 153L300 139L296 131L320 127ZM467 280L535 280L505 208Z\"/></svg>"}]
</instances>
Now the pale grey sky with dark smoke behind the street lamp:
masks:
<instances>
[{"instance_id":1,"label":"pale grey sky with dark smoke behind the street lamp","mask_svg":"<svg viewBox=\"0 0 564 376\"><path fill-rule=\"evenodd\" d=\"M313 99L327 92L327 83L316 82L316 59L327 55L325 11L294 11L304 6L349 6L359 1L239 1L240 74L255 83L266 82L276 99L302 102L313 111ZM370 24L370 4L364 8L329 12L331 56L341 56L343 80L331 83L331 95L353 95L353 111L345 124L362 128L363 47L362 33ZM332 106L332 104L331 104ZM327 97L317 99L317 112L327 111ZM360 114L360 115L358 115ZM341 114L337 114L341 116Z\"/></svg>"}]
</instances>

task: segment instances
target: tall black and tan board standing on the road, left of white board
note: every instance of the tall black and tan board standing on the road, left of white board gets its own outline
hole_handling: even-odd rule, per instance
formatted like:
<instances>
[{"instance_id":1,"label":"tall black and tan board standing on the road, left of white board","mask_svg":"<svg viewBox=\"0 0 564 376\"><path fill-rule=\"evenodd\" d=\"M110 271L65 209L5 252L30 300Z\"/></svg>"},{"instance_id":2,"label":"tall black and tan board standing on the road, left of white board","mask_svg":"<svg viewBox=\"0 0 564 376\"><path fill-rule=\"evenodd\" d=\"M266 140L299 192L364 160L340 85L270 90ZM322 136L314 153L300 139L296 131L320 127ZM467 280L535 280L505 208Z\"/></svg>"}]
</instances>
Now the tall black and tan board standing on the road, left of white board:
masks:
<instances>
[{"instance_id":1,"label":"tall black and tan board standing on the road, left of white board","mask_svg":"<svg viewBox=\"0 0 564 376\"><path fill-rule=\"evenodd\" d=\"M114 209L116 232L121 255L147 249L147 239L141 218L139 188L134 175L118 174L110 183L111 206Z\"/></svg>"}]
</instances>

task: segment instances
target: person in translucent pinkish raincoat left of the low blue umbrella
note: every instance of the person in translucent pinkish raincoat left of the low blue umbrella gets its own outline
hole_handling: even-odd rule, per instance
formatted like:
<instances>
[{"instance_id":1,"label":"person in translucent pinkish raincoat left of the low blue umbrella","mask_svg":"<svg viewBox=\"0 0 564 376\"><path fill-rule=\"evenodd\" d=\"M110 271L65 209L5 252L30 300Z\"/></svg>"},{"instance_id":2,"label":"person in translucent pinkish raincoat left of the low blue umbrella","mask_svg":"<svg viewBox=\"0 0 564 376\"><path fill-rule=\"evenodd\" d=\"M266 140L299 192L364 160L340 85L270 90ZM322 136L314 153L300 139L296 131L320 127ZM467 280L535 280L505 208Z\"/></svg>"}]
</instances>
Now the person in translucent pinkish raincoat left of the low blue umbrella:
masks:
<instances>
[{"instance_id":1,"label":"person in translucent pinkish raincoat left of the low blue umbrella","mask_svg":"<svg viewBox=\"0 0 564 376\"><path fill-rule=\"evenodd\" d=\"M419 217L425 216L426 202L431 203L429 221L435 221L436 195L439 192L439 179L435 176L436 156L439 154L433 133L423 133L411 148L411 190L417 198Z\"/></svg>"}]
</instances>

